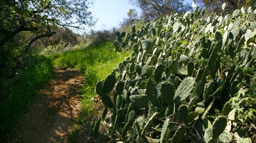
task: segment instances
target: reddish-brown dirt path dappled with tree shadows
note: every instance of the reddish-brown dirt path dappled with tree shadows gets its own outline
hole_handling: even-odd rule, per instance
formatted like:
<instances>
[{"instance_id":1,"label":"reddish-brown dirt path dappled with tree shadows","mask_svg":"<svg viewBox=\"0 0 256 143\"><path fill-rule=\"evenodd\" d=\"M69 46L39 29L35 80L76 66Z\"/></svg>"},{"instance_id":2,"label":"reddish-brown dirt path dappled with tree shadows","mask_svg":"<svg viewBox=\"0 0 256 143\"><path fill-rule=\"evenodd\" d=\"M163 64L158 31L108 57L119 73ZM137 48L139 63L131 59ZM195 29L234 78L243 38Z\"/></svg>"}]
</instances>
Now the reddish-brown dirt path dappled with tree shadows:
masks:
<instances>
[{"instance_id":1,"label":"reddish-brown dirt path dappled with tree shadows","mask_svg":"<svg viewBox=\"0 0 256 143\"><path fill-rule=\"evenodd\" d=\"M67 142L70 125L78 116L78 88L83 80L76 69L54 67L53 79L38 91L12 142Z\"/></svg>"}]
</instances>

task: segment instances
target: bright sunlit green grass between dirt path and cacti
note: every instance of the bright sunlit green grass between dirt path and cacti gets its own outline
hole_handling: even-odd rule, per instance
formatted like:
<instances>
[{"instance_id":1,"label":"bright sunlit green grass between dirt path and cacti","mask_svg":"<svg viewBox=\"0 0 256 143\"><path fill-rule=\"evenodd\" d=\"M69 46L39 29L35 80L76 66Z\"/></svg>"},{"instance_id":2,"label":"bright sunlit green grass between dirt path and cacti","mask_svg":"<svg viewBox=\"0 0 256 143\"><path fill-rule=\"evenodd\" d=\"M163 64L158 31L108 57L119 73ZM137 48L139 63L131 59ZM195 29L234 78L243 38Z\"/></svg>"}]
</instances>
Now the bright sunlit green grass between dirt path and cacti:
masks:
<instances>
[{"instance_id":1,"label":"bright sunlit green grass between dirt path and cacti","mask_svg":"<svg viewBox=\"0 0 256 143\"><path fill-rule=\"evenodd\" d=\"M91 99L96 95L95 86L97 82L110 75L112 69L117 67L130 54L130 51L115 52L112 42L102 42L96 46L65 52L54 57L54 65L64 68L77 68L84 74L86 80L79 118L81 124L86 124L88 120L92 120L92 116L96 113L94 102Z\"/></svg>"}]
</instances>

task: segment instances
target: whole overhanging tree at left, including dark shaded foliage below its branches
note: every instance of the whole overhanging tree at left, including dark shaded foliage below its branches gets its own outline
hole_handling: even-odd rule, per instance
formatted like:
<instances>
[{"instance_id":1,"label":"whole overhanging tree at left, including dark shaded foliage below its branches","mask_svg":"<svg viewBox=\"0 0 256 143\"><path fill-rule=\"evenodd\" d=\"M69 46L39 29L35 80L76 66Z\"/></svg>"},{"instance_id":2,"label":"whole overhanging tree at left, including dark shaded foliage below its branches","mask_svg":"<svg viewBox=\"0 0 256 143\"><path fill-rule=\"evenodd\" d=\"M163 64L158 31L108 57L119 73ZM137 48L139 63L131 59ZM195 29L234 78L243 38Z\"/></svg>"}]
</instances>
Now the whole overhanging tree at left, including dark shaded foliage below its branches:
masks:
<instances>
[{"instance_id":1,"label":"whole overhanging tree at left, including dark shaded foliage below its branches","mask_svg":"<svg viewBox=\"0 0 256 143\"><path fill-rule=\"evenodd\" d=\"M0 101L9 93L9 82L25 62L30 45L52 36L57 27L93 26L92 4L93 0L0 0ZM24 32L32 37L21 43L18 38Z\"/></svg>"}]
</instances>

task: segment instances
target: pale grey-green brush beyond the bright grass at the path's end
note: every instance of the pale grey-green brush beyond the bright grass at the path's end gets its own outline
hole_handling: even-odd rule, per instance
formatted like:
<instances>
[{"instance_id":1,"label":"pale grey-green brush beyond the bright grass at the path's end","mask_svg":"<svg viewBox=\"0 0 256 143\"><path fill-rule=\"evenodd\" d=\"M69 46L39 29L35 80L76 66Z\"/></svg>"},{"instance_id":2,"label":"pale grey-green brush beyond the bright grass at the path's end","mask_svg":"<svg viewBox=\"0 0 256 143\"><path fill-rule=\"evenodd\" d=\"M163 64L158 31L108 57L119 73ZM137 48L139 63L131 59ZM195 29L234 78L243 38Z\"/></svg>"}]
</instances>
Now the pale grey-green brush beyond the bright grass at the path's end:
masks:
<instances>
[{"instance_id":1,"label":"pale grey-green brush beyond the bright grass at the path's end","mask_svg":"<svg viewBox=\"0 0 256 143\"><path fill-rule=\"evenodd\" d=\"M39 46L35 47L33 51L39 55L55 56L71 50L98 46L101 43L113 41L116 38L115 28L113 30L91 31L91 34L87 36L76 35L69 30L63 31L61 28L57 30L57 33L50 38L41 38L38 40L36 44Z\"/></svg>"}]
</instances>

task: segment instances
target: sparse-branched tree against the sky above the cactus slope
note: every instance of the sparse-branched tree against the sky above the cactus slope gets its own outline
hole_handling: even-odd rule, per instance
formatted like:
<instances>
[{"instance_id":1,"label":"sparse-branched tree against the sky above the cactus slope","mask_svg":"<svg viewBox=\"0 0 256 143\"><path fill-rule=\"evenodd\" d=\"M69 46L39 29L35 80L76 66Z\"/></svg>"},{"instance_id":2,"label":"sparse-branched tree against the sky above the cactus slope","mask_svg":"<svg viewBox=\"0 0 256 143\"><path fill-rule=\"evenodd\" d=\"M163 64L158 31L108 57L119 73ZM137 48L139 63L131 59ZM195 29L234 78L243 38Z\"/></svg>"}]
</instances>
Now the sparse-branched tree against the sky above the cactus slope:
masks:
<instances>
[{"instance_id":1,"label":"sparse-branched tree against the sky above the cactus slope","mask_svg":"<svg viewBox=\"0 0 256 143\"><path fill-rule=\"evenodd\" d=\"M169 15L173 11L182 13L191 10L191 6L183 4L184 0L130 0L133 5L142 11L142 17L147 21L160 17L161 14Z\"/></svg>"}]
</instances>

